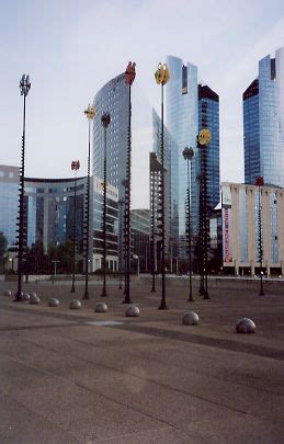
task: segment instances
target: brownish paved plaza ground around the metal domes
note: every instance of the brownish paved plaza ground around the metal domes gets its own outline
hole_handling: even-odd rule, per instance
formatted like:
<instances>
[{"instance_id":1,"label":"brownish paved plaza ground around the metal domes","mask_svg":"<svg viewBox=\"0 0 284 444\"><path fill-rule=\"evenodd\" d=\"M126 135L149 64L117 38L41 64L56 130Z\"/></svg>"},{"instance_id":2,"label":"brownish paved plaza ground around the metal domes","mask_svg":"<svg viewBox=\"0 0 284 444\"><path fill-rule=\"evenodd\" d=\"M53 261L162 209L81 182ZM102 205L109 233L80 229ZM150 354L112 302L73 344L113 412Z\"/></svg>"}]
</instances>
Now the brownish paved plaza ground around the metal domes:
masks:
<instances>
[{"instance_id":1,"label":"brownish paved plaza ground around the metal domes","mask_svg":"<svg viewBox=\"0 0 284 444\"><path fill-rule=\"evenodd\" d=\"M70 310L66 284L25 284L41 297L33 306L3 296L15 284L0 283L1 443L284 442L284 291L215 288L189 305L172 285L160 311L159 291L135 284L140 317L126 318L112 285L107 314L95 314L98 284ZM200 326L181 325L188 309ZM255 334L235 333L243 316Z\"/></svg>"}]
</instances>

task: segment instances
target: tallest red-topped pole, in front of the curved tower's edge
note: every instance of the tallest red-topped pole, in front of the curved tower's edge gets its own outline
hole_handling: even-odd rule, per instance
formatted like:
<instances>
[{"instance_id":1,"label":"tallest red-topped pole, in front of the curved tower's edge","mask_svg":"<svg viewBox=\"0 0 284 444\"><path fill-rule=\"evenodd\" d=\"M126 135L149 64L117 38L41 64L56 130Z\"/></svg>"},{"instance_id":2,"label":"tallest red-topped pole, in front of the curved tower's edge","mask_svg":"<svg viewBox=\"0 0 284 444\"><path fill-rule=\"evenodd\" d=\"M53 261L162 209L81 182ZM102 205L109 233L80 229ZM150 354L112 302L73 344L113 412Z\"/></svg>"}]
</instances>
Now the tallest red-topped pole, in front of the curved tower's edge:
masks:
<instances>
[{"instance_id":1,"label":"tallest red-topped pole, in front of the curved tower's edge","mask_svg":"<svg viewBox=\"0 0 284 444\"><path fill-rule=\"evenodd\" d=\"M129 61L124 76L124 81L126 86L128 86L128 135L127 135L127 158L126 158L125 202L124 202L125 297L123 304L132 304L130 300L132 84L136 77L135 67L136 64Z\"/></svg>"}]
</instances>

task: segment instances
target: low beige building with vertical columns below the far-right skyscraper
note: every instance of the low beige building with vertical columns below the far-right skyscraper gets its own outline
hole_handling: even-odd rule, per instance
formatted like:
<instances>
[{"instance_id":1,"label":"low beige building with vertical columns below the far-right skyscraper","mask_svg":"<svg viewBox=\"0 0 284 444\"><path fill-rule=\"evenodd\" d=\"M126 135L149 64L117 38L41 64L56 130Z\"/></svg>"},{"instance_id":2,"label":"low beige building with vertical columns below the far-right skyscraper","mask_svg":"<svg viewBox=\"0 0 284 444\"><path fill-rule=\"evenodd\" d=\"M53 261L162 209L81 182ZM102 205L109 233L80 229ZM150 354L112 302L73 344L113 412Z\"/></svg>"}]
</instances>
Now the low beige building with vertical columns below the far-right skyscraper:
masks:
<instances>
[{"instance_id":1,"label":"low beige building with vertical columns below the far-right skyscraper","mask_svg":"<svg viewBox=\"0 0 284 444\"><path fill-rule=\"evenodd\" d=\"M221 183L223 267L235 274L260 272L259 229L263 269L284 273L284 189Z\"/></svg>"}]
</instances>

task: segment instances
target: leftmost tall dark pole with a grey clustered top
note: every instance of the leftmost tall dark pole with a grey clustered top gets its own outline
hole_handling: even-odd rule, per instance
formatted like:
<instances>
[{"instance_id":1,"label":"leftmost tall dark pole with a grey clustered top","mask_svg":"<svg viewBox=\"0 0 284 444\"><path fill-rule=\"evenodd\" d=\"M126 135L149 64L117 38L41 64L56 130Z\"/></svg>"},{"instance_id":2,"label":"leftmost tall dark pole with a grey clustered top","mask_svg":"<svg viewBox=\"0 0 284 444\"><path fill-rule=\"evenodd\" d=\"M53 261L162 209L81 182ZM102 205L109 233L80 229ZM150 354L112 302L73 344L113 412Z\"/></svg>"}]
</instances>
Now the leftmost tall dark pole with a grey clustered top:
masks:
<instances>
[{"instance_id":1,"label":"leftmost tall dark pole with a grey clustered top","mask_svg":"<svg viewBox=\"0 0 284 444\"><path fill-rule=\"evenodd\" d=\"M14 301L19 303L23 300L22 297L22 275L23 275L23 253L26 236L26 220L24 208L24 157L25 157L25 98L30 91L31 82L29 75L22 76L20 81L21 95L24 96L24 110L23 110L23 135L22 135L22 155L21 155L21 168L20 168L20 184L19 184L19 216L18 216L18 289Z\"/></svg>"}]
</instances>

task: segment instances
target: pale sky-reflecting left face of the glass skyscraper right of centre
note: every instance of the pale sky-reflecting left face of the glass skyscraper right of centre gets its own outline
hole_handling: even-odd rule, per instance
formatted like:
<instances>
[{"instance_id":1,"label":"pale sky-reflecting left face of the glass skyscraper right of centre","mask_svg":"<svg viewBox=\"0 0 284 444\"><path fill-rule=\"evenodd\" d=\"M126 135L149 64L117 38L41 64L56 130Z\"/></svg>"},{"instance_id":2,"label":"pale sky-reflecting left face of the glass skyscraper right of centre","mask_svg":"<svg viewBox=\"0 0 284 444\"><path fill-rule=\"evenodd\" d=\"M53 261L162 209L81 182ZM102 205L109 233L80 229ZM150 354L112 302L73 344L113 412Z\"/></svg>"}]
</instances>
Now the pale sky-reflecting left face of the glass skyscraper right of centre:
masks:
<instances>
[{"instance_id":1,"label":"pale sky-reflecting left face of the glass skyscraper right of centre","mask_svg":"<svg viewBox=\"0 0 284 444\"><path fill-rule=\"evenodd\" d=\"M196 135L198 133L198 89L197 67L183 65L178 57L167 57L170 81L167 83L166 125L172 137L171 152L171 221L173 249L179 248L180 257L186 253L186 190L188 170L182 151L188 147L194 150L192 160L192 225L197 230L197 182L198 156ZM173 210L174 209L174 210Z\"/></svg>"}]
</instances>

